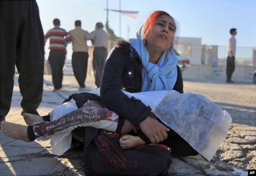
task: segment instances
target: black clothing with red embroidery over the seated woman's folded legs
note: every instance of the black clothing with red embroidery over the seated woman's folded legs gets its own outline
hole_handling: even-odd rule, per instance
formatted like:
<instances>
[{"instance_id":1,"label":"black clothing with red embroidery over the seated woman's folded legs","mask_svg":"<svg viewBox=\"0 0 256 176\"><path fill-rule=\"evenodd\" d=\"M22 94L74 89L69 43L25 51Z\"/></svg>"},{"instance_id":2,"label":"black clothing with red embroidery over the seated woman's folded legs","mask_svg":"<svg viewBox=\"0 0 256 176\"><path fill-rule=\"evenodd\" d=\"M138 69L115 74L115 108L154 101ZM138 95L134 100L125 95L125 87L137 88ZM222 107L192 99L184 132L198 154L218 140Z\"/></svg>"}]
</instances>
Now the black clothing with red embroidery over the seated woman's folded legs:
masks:
<instances>
[{"instance_id":1,"label":"black clothing with red embroidery over the seated woman's folded legs","mask_svg":"<svg viewBox=\"0 0 256 176\"><path fill-rule=\"evenodd\" d=\"M95 136L96 135L96 136ZM87 136L87 137L86 137ZM90 142L88 138L94 137ZM84 174L91 175L168 175L172 163L166 145L139 145L122 149L120 133L85 128Z\"/></svg>"}]
</instances>

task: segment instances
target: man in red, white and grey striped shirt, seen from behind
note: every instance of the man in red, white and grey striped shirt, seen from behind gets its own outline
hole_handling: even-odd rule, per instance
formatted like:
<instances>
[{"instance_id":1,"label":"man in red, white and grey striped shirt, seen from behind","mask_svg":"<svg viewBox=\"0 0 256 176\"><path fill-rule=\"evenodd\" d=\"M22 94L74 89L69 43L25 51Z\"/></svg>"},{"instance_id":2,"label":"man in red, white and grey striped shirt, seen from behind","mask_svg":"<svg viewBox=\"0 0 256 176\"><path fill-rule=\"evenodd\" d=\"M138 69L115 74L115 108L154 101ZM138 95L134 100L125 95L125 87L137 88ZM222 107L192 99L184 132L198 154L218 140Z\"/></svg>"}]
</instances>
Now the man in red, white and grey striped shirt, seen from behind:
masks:
<instances>
[{"instance_id":1,"label":"man in red, white and grey striped shirt, seen from behind","mask_svg":"<svg viewBox=\"0 0 256 176\"><path fill-rule=\"evenodd\" d=\"M54 84L54 92L59 91L62 87L63 80L63 66L66 59L66 44L65 40L69 42L71 35L66 30L59 28L60 20L53 20L54 28L47 31L45 34L45 42L50 39L50 53L49 63L52 70L52 83Z\"/></svg>"}]
</instances>

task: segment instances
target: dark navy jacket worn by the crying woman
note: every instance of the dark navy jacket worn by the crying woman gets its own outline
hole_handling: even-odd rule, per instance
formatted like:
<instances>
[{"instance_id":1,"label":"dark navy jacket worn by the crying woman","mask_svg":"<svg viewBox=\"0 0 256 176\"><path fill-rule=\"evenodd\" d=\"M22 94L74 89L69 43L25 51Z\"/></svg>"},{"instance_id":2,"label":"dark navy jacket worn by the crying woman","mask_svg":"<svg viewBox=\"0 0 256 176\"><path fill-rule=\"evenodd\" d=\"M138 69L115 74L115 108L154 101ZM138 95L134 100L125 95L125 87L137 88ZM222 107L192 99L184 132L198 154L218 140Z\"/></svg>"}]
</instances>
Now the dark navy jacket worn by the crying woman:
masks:
<instances>
[{"instance_id":1,"label":"dark navy jacket worn by the crying woman","mask_svg":"<svg viewBox=\"0 0 256 176\"><path fill-rule=\"evenodd\" d=\"M120 132L124 119L139 123L150 114L151 108L140 100L128 98L121 89L130 93L141 92L141 59L128 42L115 46L106 60L100 85L100 97L104 105L119 115L117 132ZM183 80L177 65L178 76L174 90L183 93ZM171 91L171 90L170 90Z\"/></svg>"}]
</instances>

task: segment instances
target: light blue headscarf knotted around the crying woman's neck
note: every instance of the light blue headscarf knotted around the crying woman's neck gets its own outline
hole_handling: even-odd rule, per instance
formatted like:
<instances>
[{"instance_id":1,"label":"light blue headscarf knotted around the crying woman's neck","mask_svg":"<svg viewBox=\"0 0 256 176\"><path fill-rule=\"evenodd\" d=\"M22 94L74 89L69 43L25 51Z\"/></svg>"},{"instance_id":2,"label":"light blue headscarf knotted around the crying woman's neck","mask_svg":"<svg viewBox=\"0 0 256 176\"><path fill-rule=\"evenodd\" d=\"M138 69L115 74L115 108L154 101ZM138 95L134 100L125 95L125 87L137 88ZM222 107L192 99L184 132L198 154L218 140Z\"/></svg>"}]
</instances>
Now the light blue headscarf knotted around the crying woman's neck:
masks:
<instances>
[{"instance_id":1,"label":"light blue headscarf knotted around the crying woman's neck","mask_svg":"<svg viewBox=\"0 0 256 176\"><path fill-rule=\"evenodd\" d=\"M129 39L131 46L141 57L142 65L142 92L173 90L177 80L177 63L172 46L163 52L157 64L148 62L149 54L143 40L143 26L135 34L135 38Z\"/></svg>"}]
</instances>

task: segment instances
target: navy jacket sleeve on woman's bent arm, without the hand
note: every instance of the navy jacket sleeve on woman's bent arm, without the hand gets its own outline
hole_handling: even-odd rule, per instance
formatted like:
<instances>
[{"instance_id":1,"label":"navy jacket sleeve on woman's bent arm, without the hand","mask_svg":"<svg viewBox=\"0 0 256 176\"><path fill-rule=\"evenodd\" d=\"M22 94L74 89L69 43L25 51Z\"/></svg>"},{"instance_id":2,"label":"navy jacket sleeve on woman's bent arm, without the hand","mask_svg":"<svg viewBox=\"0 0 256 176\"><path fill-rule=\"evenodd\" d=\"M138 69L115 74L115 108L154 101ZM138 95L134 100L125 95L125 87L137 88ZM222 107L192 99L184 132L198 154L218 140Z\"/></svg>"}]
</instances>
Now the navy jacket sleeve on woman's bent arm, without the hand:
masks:
<instances>
[{"instance_id":1,"label":"navy jacket sleeve on woman's bent arm, without the hand","mask_svg":"<svg viewBox=\"0 0 256 176\"><path fill-rule=\"evenodd\" d=\"M148 117L151 108L138 99L128 98L121 91L123 77L130 64L129 58L129 50L127 52L120 47L109 52L102 75L100 97L109 110L139 126Z\"/></svg>"}]
</instances>

